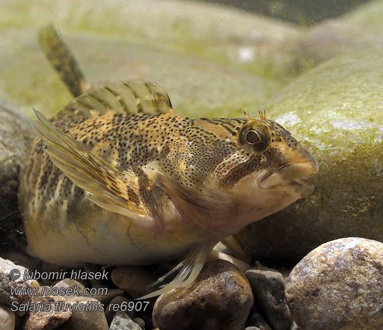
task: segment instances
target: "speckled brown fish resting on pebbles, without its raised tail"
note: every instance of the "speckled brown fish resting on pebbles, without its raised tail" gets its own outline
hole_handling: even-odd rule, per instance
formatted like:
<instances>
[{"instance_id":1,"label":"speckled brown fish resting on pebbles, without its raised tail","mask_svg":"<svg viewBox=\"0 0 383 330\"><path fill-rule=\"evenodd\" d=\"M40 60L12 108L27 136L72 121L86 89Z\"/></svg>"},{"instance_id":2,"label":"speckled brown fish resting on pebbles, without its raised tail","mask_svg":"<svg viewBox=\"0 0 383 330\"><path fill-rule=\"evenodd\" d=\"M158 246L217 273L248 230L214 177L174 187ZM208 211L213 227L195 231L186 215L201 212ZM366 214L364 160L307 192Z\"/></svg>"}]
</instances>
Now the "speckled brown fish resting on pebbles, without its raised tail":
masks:
<instances>
[{"instance_id":1,"label":"speckled brown fish resting on pebbles, without its raised tail","mask_svg":"<svg viewBox=\"0 0 383 330\"><path fill-rule=\"evenodd\" d=\"M314 189L316 160L280 124L183 117L144 81L82 94L51 121L36 114L19 190L29 252L63 266L186 255L152 295L192 282L217 242Z\"/></svg>"}]
</instances>

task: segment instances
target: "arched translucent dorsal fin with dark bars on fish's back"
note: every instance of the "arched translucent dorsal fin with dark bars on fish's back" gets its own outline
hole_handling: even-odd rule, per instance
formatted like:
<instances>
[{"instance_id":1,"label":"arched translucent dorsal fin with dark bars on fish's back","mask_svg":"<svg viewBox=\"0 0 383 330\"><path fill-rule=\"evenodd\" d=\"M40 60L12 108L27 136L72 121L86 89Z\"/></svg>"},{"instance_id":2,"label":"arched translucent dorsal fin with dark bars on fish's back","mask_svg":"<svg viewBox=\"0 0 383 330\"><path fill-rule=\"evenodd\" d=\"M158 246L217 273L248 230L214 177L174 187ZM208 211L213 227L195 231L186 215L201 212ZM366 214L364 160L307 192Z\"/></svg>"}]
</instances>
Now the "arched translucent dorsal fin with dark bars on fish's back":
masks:
<instances>
[{"instance_id":1,"label":"arched translucent dorsal fin with dark bars on fish's back","mask_svg":"<svg viewBox=\"0 0 383 330\"><path fill-rule=\"evenodd\" d=\"M142 79L106 83L92 89L69 102L54 118L89 118L91 111L105 114L115 111L125 114L155 115L171 110L169 96L165 90Z\"/></svg>"}]
</instances>

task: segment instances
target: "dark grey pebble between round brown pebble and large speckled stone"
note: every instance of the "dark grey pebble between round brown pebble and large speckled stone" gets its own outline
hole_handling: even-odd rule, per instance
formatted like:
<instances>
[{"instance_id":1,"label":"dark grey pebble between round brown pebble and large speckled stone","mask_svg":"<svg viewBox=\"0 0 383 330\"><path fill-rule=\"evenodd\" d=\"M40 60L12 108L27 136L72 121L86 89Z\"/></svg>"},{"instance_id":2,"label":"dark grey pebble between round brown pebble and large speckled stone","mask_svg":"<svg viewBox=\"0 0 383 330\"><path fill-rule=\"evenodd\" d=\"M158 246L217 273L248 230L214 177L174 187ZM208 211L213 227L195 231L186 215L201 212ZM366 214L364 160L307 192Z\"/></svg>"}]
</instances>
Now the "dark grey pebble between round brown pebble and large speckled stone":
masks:
<instances>
[{"instance_id":1,"label":"dark grey pebble between round brown pebble and large speckled stone","mask_svg":"<svg viewBox=\"0 0 383 330\"><path fill-rule=\"evenodd\" d=\"M292 322L285 299L285 279L273 270L251 269L245 273L254 300L273 330L287 330Z\"/></svg>"}]
</instances>

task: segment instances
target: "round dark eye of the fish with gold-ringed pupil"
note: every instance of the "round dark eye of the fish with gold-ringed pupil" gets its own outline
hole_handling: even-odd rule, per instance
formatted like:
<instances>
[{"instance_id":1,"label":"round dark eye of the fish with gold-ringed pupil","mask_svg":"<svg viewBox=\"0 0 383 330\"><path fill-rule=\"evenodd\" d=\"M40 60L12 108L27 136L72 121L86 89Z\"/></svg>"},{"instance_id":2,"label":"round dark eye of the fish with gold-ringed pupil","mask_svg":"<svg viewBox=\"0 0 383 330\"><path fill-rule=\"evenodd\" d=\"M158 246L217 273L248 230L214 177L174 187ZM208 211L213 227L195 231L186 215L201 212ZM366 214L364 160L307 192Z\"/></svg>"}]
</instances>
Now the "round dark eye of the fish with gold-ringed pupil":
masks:
<instances>
[{"instance_id":1,"label":"round dark eye of the fish with gold-ringed pupil","mask_svg":"<svg viewBox=\"0 0 383 330\"><path fill-rule=\"evenodd\" d=\"M265 152L271 145L271 132L266 123L261 120L249 120L239 127L237 143L248 153Z\"/></svg>"}]
</instances>

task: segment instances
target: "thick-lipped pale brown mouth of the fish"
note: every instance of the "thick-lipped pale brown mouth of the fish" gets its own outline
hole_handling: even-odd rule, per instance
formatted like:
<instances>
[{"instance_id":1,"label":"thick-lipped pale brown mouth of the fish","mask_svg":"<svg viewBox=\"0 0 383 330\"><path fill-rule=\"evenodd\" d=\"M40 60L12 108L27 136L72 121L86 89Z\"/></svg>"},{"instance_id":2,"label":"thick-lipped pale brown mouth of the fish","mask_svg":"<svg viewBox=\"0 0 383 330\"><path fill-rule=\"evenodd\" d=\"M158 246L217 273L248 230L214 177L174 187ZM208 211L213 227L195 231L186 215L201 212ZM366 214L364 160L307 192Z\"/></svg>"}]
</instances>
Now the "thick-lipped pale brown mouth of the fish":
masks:
<instances>
[{"instance_id":1,"label":"thick-lipped pale brown mouth of the fish","mask_svg":"<svg viewBox=\"0 0 383 330\"><path fill-rule=\"evenodd\" d=\"M301 188L302 193L306 195L314 190L315 187L307 179L316 174L318 169L318 163L315 159L298 163L287 163L266 173L258 185L262 189L270 189L278 185L296 186Z\"/></svg>"}]
</instances>

